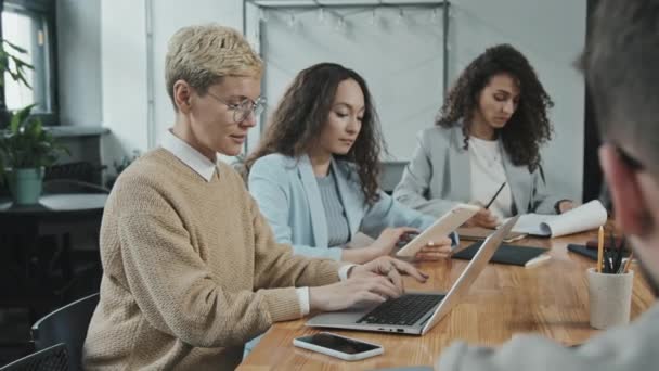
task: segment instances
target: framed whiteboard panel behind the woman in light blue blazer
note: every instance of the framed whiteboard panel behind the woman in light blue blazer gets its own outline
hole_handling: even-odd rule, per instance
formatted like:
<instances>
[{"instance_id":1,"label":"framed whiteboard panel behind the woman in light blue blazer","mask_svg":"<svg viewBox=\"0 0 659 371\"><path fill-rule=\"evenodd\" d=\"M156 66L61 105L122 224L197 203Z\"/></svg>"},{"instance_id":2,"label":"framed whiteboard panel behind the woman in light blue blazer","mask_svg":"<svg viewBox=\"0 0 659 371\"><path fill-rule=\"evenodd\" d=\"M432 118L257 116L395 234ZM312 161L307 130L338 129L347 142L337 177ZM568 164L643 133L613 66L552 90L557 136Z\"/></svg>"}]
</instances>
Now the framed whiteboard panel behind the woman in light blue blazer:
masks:
<instances>
[{"instance_id":1,"label":"framed whiteboard panel behind the woman in light blue blazer","mask_svg":"<svg viewBox=\"0 0 659 371\"><path fill-rule=\"evenodd\" d=\"M335 62L359 73L379 114L389 159L409 159L415 133L443 100L442 11L408 8L270 10L261 22L264 95L274 108L299 71ZM293 16L293 18L290 18ZM337 27L340 17L345 25ZM290 21L294 21L290 23ZM250 35L248 37L251 38ZM254 148L251 141L250 149Z\"/></svg>"}]
</instances>

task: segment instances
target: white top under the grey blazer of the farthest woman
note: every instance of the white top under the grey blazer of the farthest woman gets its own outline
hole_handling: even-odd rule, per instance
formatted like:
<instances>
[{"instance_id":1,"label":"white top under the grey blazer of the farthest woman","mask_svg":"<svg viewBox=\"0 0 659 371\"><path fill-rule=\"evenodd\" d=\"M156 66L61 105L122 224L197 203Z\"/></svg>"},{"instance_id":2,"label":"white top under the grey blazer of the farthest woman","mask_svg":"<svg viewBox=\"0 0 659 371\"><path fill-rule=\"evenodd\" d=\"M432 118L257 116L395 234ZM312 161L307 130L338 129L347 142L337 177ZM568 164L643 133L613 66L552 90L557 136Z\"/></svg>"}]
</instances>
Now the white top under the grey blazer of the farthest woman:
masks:
<instances>
[{"instance_id":1,"label":"white top under the grey blazer of the farthest woman","mask_svg":"<svg viewBox=\"0 0 659 371\"><path fill-rule=\"evenodd\" d=\"M487 205L506 181L501 145L498 140L469 137L468 152L471 165L471 200ZM508 183L489 209L500 220L513 216L513 193Z\"/></svg>"}]
</instances>

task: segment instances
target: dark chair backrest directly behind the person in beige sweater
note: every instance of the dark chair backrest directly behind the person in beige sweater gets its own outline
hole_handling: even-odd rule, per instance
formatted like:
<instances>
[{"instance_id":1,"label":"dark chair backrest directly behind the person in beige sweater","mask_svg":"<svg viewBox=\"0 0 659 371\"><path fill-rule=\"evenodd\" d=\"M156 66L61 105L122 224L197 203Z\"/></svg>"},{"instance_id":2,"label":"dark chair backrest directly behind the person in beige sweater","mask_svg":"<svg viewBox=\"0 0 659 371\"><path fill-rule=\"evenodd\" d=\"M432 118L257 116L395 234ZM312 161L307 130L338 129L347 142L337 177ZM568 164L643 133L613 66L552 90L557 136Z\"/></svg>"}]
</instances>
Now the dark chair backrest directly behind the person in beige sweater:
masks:
<instances>
[{"instance_id":1,"label":"dark chair backrest directly behind the person in beige sweater","mask_svg":"<svg viewBox=\"0 0 659 371\"><path fill-rule=\"evenodd\" d=\"M35 348L40 350L64 343L70 359L69 370L82 370L82 344L98 304L96 293L46 315L33 325Z\"/></svg>"}]
</instances>

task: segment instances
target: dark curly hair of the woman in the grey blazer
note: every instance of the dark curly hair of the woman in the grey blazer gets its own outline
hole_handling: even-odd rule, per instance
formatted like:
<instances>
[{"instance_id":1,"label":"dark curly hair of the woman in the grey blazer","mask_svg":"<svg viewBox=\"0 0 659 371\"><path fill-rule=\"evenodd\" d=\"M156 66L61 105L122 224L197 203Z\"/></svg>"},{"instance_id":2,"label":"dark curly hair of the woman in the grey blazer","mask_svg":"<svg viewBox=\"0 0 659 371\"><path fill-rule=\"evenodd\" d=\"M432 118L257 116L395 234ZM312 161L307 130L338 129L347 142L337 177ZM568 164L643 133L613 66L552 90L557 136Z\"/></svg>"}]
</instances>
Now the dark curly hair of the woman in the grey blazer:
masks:
<instances>
[{"instance_id":1,"label":"dark curly hair of the woman in the grey blazer","mask_svg":"<svg viewBox=\"0 0 659 371\"><path fill-rule=\"evenodd\" d=\"M538 80L529 61L509 44L488 48L465 68L448 93L435 124L441 127L460 125L464 135L464 149L468 148L469 128L474 112L478 110L480 92L498 74L512 75L520 90L517 110L496 129L513 164L526 165L530 171L540 166L540 145L552 138L547 108L554 102Z\"/></svg>"}]
</instances>

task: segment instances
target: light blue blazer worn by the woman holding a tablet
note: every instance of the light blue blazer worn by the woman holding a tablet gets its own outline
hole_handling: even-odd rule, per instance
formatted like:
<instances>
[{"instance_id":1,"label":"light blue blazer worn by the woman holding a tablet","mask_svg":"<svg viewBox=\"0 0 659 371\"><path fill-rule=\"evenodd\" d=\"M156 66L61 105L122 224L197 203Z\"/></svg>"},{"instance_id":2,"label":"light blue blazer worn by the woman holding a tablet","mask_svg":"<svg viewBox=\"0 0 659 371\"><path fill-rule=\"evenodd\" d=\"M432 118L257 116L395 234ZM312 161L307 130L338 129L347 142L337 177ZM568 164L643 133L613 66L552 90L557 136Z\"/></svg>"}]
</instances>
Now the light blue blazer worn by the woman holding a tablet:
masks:
<instances>
[{"instance_id":1,"label":"light blue blazer worn by the woman holding a tablet","mask_svg":"<svg viewBox=\"0 0 659 371\"><path fill-rule=\"evenodd\" d=\"M354 167L332 161L338 194L346 210L350 234L362 232L376 239L387 227L429 227L435 218L395 202L380 191L369 206ZM327 220L311 162L271 154L256 161L249 171L249 192L270 222L277 242L293 245L295 254L339 260L341 247L327 246ZM455 241L455 236L453 236Z\"/></svg>"}]
</instances>

